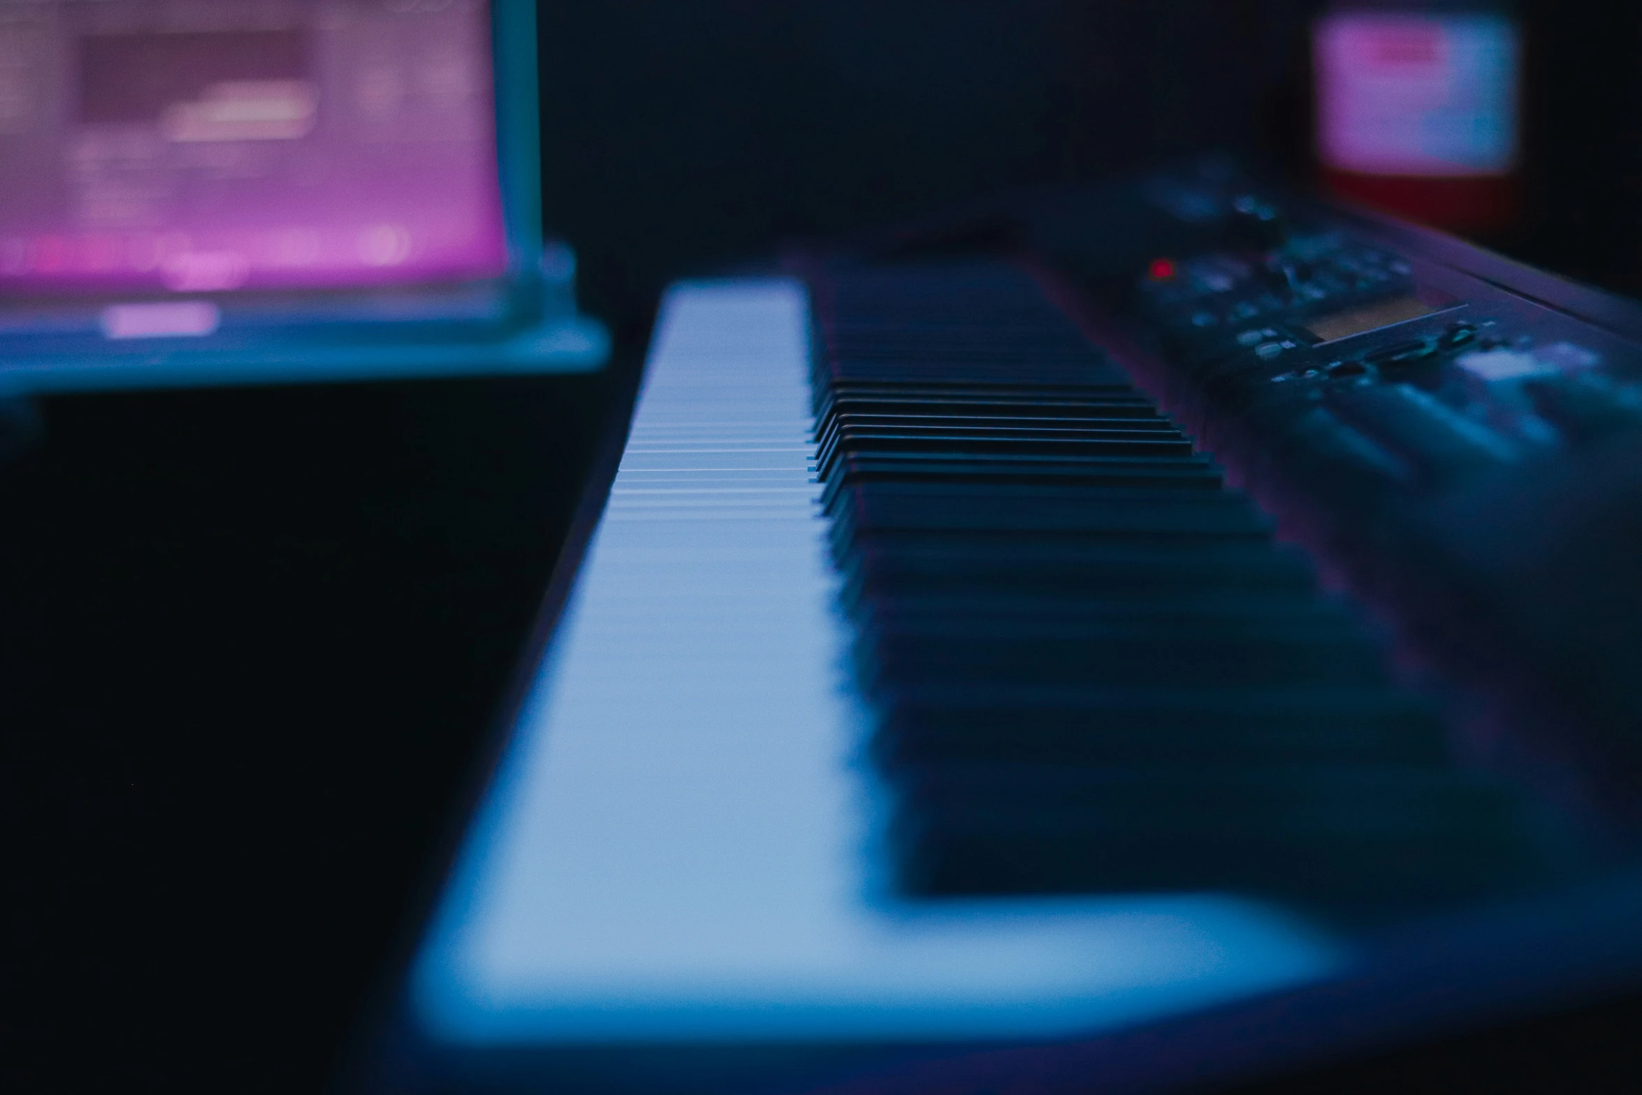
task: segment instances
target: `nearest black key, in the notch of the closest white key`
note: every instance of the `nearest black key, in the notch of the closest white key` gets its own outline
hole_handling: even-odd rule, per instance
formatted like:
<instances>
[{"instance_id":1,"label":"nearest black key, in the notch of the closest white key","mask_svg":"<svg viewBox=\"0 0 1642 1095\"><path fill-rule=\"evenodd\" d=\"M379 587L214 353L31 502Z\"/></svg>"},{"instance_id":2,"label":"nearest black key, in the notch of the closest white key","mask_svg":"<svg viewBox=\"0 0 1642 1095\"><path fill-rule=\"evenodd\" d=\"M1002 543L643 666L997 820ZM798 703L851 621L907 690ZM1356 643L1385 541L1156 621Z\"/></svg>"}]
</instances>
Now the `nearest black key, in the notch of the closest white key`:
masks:
<instances>
[{"instance_id":1,"label":"nearest black key, in the notch of the closest white key","mask_svg":"<svg viewBox=\"0 0 1642 1095\"><path fill-rule=\"evenodd\" d=\"M1373 903L1414 890L1447 903L1520 878L1532 842L1499 788L1432 767L928 765L903 793L905 882L931 895L1230 888Z\"/></svg>"}]
</instances>

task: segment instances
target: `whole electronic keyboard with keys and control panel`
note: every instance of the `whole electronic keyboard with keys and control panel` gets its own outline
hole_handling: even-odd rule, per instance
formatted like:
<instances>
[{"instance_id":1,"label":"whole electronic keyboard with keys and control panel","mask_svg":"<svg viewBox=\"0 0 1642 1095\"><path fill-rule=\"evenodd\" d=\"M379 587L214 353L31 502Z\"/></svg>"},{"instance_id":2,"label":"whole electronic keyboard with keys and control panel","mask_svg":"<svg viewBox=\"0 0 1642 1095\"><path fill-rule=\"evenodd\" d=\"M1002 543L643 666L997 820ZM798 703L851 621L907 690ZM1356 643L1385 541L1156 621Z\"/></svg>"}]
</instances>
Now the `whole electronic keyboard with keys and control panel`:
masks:
<instances>
[{"instance_id":1,"label":"whole electronic keyboard with keys and control panel","mask_svg":"<svg viewBox=\"0 0 1642 1095\"><path fill-rule=\"evenodd\" d=\"M1159 1090L1642 983L1558 599L1639 315L1212 163L675 286L361 1085Z\"/></svg>"}]
</instances>

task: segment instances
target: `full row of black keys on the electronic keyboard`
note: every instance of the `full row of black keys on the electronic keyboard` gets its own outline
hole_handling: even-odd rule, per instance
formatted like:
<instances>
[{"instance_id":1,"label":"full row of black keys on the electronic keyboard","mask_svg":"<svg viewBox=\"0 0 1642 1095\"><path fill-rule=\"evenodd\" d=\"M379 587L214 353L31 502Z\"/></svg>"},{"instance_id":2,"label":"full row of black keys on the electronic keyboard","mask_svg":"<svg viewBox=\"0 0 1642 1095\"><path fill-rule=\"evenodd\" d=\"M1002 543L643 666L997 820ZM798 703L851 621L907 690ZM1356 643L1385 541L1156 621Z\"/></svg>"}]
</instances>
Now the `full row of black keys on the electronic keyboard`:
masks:
<instances>
[{"instance_id":1,"label":"full row of black keys on the electronic keyboard","mask_svg":"<svg viewBox=\"0 0 1642 1095\"><path fill-rule=\"evenodd\" d=\"M1025 273L813 294L818 473L906 891L1361 916L1534 877L1519 801Z\"/></svg>"}]
</instances>

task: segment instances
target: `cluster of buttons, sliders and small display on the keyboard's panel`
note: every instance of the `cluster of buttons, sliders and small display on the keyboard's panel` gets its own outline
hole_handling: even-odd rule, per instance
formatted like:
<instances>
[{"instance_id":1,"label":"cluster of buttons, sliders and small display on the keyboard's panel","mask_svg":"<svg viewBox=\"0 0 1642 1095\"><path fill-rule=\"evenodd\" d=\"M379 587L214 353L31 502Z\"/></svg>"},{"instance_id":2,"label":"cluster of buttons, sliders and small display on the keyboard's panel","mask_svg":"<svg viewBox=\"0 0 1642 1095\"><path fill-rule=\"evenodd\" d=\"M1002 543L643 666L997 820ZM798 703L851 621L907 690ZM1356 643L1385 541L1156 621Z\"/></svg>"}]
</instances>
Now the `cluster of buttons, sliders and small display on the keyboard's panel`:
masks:
<instances>
[{"instance_id":1,"label":"cluster of buttons, sliders and small display on the keyboard's panel","mask_svg":"<svg viewBox=\"0 0 1642 1095\"><path fill-rule=\"evenodd\" d=\"M1435 483L1642 425L1629 345L1340 228L1158 258L1136 297L1205 396L1338 419L1363 473Z\"/></svg>"}]
</instances>

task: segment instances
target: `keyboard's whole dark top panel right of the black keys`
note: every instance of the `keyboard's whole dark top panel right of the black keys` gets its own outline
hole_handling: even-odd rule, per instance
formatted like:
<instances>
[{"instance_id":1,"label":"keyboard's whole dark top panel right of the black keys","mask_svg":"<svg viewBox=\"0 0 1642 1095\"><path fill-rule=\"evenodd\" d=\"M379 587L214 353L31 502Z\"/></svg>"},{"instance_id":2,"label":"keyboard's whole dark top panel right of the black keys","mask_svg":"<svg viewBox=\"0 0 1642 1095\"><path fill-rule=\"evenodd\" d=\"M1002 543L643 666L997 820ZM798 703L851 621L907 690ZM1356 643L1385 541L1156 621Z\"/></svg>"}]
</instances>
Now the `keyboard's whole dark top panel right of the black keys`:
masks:
<instances>
[{"instance_id":1,"label":"keyboard's whole dark top panel right of the black keys","mask_svg":"<svg viewBox=\"0 0 1642 1095\"><path fill-rule=\"evenodd\" d=\"M1218 161L1016 215L1057 300L1470 747L1634 832L1642 307Z\"/></svg>"}]
</instances>

